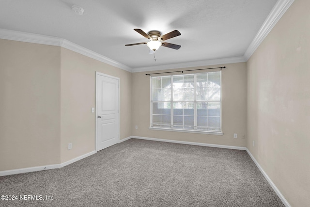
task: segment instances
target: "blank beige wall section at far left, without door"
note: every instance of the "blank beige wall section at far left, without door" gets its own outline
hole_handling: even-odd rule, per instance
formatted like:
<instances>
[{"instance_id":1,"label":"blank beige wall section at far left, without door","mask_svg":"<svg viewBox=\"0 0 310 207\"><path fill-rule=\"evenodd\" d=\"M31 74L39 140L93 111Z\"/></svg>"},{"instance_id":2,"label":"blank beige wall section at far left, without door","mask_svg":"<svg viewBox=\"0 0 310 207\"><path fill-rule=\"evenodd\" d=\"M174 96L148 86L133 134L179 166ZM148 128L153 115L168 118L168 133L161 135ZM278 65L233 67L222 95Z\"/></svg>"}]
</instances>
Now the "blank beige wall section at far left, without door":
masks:
<instances>
[{"instance_id":1,"label":"blank beige wall section at far left, without door","mask_svg":"<svg viewBox=\"0 0 310 207\"><path fill-rule=\"evenodd\" d=\"M0 171L60 163L60 48L0 39Z\"/></svg>"}]
</instances>

